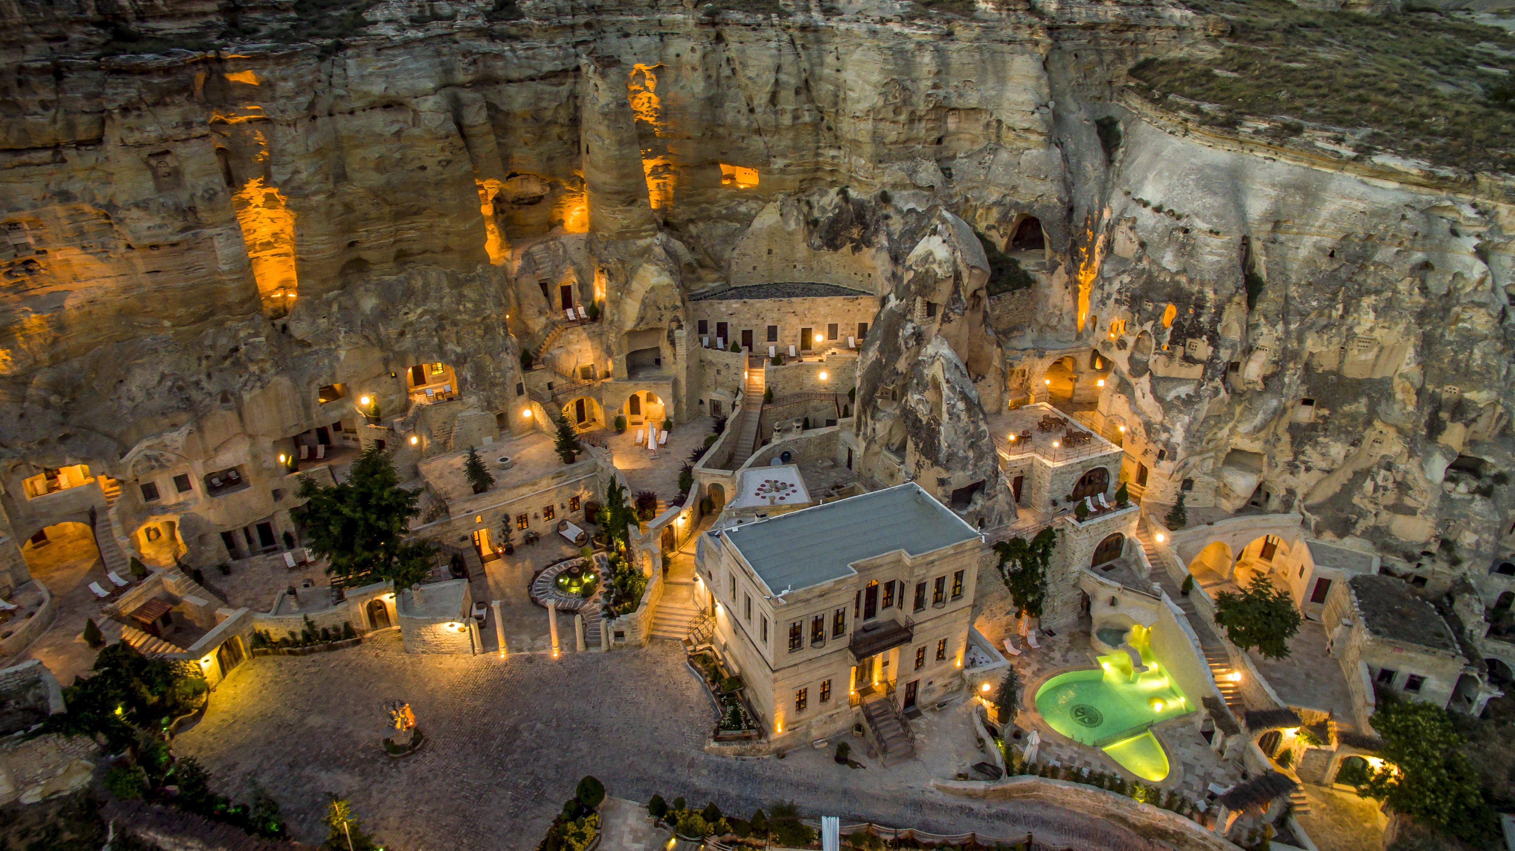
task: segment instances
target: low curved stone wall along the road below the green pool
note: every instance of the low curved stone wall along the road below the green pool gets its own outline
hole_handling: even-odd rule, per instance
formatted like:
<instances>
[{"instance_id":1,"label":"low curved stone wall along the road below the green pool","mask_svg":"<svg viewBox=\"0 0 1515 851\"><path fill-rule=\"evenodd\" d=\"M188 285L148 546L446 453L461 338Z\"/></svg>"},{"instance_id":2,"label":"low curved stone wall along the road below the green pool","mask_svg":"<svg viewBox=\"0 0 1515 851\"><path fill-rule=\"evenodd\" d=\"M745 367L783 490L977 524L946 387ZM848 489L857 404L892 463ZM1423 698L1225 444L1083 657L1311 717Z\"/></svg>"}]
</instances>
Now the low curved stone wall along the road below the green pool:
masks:
<instances>
[{"instance_id":1,"label":"low curved stone wall along the road below the green pool","mask_svg":"<svg viewBox=\"0 0 1515 851\"><path fill-rule=\"evenodd\" d=\"M986 801L1042 801L1067 810L1088 813L1124 827L1136 836L1167 842L1177 851L1241 851L1192 821L1151 804L1133 801L1094 786L1018 775L992 783L976 780L933 780L932 786L950 795Z\"/></svg>"}]
</instances>

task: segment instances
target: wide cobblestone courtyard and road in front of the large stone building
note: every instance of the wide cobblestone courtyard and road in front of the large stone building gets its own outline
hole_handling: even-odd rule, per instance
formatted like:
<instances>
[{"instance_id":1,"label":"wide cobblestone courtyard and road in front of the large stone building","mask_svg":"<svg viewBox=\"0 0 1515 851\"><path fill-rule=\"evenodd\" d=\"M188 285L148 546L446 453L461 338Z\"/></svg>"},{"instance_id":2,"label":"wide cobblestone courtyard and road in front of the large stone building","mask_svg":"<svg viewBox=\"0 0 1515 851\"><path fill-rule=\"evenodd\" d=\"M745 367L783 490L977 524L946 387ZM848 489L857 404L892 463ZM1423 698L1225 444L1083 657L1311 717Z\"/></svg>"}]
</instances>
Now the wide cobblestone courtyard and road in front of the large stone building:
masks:
<instances>
[{"instance_id":1,"label":"wide cobblestone courtyard and road in front of the large stone building","mask_svg":"<svg viewBox=\"0 0 1515 851\"><path fill-rule=\"evenodd\" d=\"M386 700L411 701L426 733L426 747L409 759L379 747ZM829 750L782 760L711 756L701 745L712 721L709 698L673 642L501 660L406 656L391 633L338 653L250 659L176 751L198 757L235 796L247 795L247 778L261 783L295 839L324 839L320 816L333 792L403 851L535 848L585 774L633 801L659 792L750 813L792 800L806 815L941 833L1035 831L1089 851L1129 837L1048 804L944 795L930 789L933 769L921 760L848 769Z\"/></svg>"}]
</instances>

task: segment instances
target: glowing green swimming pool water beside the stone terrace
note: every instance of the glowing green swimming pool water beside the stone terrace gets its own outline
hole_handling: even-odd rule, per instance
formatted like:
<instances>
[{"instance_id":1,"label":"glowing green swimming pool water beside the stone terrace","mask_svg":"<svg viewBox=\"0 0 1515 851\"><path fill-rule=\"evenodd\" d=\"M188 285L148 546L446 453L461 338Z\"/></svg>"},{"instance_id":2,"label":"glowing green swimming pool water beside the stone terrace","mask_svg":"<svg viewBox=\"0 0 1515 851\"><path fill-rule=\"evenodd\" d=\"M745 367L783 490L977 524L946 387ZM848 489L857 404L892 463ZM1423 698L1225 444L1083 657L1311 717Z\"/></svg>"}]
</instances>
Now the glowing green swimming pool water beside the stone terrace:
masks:
<instances>
[{"instance_id":1,"label":"glowing green swimming pool water beside the stone terrace","mask_svg":"<svg viewBox=\"0 0 1515 851\"><path fill-rule=\"evenodd\" d=\"M1189 712L1188 698L1147 654L1147 671L1135 677L1126 654L1098 660L1100 668L1047 680L1036 690L1036 710L1053 730L1101 748L1136 777L1168 777L1168 757L1148 727Z\"/></svg>"}]
</instances>

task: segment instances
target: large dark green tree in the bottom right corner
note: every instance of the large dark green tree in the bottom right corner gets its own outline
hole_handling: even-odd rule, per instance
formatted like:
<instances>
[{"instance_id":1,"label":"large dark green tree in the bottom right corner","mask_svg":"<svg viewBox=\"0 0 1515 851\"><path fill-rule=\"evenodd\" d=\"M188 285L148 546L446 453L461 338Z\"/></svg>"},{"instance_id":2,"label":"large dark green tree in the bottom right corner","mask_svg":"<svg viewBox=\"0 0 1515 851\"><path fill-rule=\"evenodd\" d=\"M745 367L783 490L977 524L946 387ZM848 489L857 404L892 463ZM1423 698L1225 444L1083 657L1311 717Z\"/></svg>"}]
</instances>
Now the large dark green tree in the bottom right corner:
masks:
<instances>
[{"instance_id":1,"label":"large dark green tree in the bottom right corner","mask_svg":"<svg viewBox=\"0 0 1515 851\"><path fill-rule=\"evenodd\" d=\"M1391 765L1370 771L1359 795L1477 846L1494 839L1494 810L1445 709L1385 698L1373 713L1373 728L1383 739L1379 756Z\"/></svg>"}]
</instances>

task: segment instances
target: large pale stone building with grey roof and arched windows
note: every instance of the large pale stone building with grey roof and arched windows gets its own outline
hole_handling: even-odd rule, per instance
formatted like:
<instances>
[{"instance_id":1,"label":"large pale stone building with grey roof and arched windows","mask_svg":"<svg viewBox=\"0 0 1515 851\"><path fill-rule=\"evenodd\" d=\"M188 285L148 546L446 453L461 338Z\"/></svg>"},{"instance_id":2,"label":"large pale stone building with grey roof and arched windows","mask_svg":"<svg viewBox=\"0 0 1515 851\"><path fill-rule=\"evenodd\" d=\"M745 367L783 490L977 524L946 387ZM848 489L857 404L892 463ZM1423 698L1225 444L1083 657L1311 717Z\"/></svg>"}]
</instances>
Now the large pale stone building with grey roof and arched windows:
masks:
<instances>
[{"instance_id":1,"label":"large pale stone building with grey roof and arched windows","mask_svg":"<svg viewBox=\"0 0 1515 851\"><path fill-rule=\"evenodd\" d=\"M862 719L885 757L901 713L961 687L980 533L914 483L708 533L714 644L776 743Z\"/></svg>"}]
</instances>

